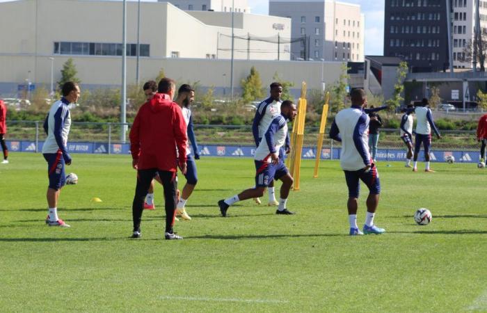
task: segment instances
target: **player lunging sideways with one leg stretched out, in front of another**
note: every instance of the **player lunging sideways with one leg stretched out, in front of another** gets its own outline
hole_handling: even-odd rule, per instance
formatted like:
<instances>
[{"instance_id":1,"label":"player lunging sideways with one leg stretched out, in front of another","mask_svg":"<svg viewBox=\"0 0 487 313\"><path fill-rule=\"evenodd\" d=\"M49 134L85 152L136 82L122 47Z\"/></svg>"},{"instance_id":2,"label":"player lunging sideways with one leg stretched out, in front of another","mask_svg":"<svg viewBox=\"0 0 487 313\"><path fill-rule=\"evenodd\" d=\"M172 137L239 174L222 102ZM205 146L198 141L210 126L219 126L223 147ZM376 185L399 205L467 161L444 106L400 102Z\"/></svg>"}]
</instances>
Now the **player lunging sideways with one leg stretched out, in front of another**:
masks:
<instances>
[{"instance_id":1,"label":"player lunging sideways with one leg stretched out, in front of another","mask_svg":"<svg viewBox=\"0 0 487 313\"><path fill-rule=\"evenodd\" d=\"M255 188L242 191L227 200L218 201L221 215L227 216L227 209L238 201L250 198L258 198L264 195L265 188L271 184L273 179L280 179L282 186L280 188L279 206L276 214L294 214L286 209L289 189L293 184L293 179L289 175L284 160L279 157L283 154L282 148L286 143L287 137L287 120L292 121L296 117L296 105L289 100L282 102L280 106L280 115L277 115L266 132L264 132L259 147L255 150Z\"/></svg>"}]
</instances>

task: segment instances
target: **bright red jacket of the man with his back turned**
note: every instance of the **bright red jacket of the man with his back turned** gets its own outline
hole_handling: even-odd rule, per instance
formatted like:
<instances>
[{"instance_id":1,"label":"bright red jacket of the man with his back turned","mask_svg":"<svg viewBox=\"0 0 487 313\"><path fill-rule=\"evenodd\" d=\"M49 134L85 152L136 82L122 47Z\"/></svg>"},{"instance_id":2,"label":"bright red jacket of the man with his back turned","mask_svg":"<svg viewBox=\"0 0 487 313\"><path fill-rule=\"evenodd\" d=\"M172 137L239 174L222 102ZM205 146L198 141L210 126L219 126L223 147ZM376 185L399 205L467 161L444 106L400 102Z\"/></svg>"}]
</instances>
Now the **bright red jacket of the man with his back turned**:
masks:
<instances>
[{"instance_id":1,"label":"bright red jacket of the man with his back turned","mask_svg":"<svg viewBox=\"0 0 487 313\"><path fill-rule=\"evenodd\" d=\"M176 172L176 160L186 162L187 146L181 108L168 95L157 93L141 106L130 129L130 151L132 158L138 160L139 170Z\"/></svg>"}]
</instances>

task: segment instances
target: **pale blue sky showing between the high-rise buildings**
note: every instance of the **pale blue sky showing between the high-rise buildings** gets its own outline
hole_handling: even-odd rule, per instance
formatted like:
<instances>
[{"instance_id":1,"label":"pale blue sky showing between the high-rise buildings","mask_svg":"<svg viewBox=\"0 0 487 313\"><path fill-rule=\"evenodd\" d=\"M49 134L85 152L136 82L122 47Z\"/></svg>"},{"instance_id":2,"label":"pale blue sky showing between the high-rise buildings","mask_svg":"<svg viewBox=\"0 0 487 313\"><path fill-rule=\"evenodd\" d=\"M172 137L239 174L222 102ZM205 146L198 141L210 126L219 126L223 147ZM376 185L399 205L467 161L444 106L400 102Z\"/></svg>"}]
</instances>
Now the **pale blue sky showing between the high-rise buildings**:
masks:
<instances>
[{"instance_id":1,"label":"pale blue sky showing between the high-rise buildings","mask_svg":"<svg viewBox=\"0 0 487 313\"><path fill-rule=\"evenodd\" d=\"M12 0L0 0L0 2L5 1ZM362 13L365 14L365 55L381 56L384 46L384 0L342 0L342 2L360 4ZM268 0L248 0L248 4L252 13L269 14Z\"/></svg>"}]
</instances>

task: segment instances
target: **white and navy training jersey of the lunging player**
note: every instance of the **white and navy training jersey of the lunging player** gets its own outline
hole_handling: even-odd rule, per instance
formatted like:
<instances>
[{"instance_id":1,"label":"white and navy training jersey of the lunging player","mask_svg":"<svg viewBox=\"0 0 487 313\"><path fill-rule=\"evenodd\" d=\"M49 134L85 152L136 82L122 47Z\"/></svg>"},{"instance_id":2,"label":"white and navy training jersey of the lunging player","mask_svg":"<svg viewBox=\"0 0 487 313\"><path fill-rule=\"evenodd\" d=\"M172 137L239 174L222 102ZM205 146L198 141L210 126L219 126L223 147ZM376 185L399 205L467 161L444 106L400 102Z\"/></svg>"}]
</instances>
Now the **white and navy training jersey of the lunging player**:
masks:
<instances>
[{"instance_id":1,"label":"white and navy training jersey of the lunging player","mask_svg":"<svg viewBox=\"0 0 487 313\"><path fill-rule=\"evenodd\" d=\"M270 141L266 138L266 133L269 132L271 138ZM257 161L266 161L271 163L271 149L269 149L269 143L273 145L273 151L279 153L280 147L285 145L287 136L287 122L284 116L277 115L270 123L262 135L262 139L259 143L259 147L255 150L254 159Z\"/></svg>"}]
</instances>

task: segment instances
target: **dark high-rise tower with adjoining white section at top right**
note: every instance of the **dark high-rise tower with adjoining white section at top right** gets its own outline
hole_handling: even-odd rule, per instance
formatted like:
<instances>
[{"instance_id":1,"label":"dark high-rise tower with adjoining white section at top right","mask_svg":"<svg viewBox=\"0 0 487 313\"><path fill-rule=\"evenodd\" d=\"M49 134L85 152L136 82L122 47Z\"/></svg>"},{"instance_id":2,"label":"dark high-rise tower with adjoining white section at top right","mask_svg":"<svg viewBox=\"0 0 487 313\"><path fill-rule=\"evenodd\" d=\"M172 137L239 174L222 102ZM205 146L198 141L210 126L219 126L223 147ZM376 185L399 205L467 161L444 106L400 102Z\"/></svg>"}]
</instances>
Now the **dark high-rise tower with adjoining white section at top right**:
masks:
<instances>
[{"instance_id":1,"label":"dark high-rise tower with adjoining white section at top right","mask_svg":"<svg viewBox=\"0 0 487 313\"><path fill-rule=\"evenodd\" d=\"M451 51L455 68L472 68L468 47L474 40L475 2L385 1L384 56L403 58L413 72L438 72L448 69ZM480 26L486 29L487 2L480 4Z\"/></svg>"}]
</instances>

